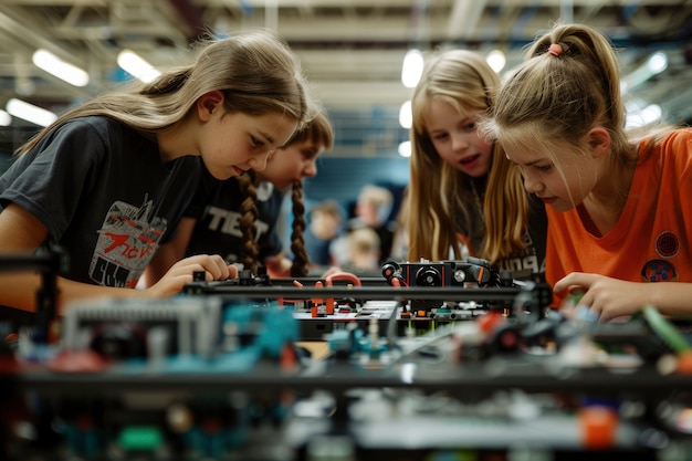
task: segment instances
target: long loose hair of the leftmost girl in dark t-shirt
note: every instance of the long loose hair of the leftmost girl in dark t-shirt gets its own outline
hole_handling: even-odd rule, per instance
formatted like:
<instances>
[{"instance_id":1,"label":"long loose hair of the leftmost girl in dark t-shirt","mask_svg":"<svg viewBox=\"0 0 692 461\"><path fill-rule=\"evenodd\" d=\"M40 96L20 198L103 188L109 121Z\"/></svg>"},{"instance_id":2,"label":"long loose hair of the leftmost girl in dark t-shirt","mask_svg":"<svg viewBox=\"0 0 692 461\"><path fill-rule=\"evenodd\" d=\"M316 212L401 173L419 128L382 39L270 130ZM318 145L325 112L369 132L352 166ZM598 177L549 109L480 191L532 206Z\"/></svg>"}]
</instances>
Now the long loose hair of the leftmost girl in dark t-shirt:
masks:
<instances>
[{"instance_id":1,"label":"long loose hair of the leftmost girl in dark t-shirt","mask_svg":"<svg viewBox=\"0 0 692 461\"><path fill-rule=\"evenodd\" d=\"M129 82L60 116L18 149L23 154L65 121L104 115L144 133L159 133L179 123L197 99L222 91L231 113L279 112L302 126L311 113L307 84L289 45L269 30L248 30L226 39L200 39L197 61L161 74L154 82Z\"/></svg>"}]
</instances>

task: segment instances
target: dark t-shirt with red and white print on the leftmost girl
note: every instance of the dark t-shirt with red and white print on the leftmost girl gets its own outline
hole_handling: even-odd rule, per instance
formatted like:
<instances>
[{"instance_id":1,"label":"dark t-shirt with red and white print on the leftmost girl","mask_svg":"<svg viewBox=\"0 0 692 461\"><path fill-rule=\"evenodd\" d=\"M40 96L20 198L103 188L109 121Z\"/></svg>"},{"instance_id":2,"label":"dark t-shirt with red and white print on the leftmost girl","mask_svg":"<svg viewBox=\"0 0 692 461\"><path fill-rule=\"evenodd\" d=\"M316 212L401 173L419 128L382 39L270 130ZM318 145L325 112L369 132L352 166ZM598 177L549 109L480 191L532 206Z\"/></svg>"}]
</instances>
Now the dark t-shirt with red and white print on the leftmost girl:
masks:
<instances>
[{"instance_id":1,"label":"dark t-shirt with red and white print on the leftmost girl","mask_svg":"<svg viewBox=\"0 0 692 461\"><path fill-rule=\"evenodd\" d=\"M78 282L135 287L169 240L201 160L164 164L153 138L104 116L65 122L0 177L0 205L35 216L70 255Z\"/></svg>"}]
</instances>

